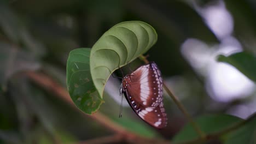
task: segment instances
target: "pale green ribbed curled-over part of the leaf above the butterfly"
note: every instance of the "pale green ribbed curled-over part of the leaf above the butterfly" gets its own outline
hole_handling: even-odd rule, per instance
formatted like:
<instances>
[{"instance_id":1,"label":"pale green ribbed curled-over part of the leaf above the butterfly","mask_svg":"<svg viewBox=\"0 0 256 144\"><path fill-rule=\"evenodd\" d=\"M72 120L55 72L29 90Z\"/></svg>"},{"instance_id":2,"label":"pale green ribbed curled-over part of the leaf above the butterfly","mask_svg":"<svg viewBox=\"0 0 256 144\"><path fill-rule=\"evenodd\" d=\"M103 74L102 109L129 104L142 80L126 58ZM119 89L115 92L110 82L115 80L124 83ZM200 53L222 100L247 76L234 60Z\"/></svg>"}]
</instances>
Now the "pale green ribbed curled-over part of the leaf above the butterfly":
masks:
<instances>
[{"instance_id":1,"label":"pale green ribbed curled-over part of the leaf above the butterfly","mask_svg":"<svg viewBox=\"0 0 256 144\"><path fill-rule=\"evenodd\" d=\"M101 98L110 74L147 52L157 37L155 29L141 21L118 23L102 35L90 54L91 77Z\"/></svg>"}]
</instances>

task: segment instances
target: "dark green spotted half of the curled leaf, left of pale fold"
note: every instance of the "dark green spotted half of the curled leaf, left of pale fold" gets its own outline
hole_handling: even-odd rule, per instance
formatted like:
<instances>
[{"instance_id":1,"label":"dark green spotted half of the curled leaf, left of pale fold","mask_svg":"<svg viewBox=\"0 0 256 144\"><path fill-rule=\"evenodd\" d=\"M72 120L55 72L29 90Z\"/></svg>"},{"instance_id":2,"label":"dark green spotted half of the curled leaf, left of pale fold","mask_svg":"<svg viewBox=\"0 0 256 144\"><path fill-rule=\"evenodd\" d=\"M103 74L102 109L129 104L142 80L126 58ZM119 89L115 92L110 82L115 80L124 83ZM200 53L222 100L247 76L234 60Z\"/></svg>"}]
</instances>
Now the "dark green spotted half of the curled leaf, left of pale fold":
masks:
<instances>
[{"instance_id":1,"label":"dark green spotted half of the curled leaf, left of pale fold","mask_svg":"<svg viewBox=\"0 0 256 144\"><path fill-rule=\"evenodd\" d=\"M90 49L75 49L67 60L67 87L74 104L82 111L92 114L103 103L90 74Z\"/></svg>"}]
</instances>

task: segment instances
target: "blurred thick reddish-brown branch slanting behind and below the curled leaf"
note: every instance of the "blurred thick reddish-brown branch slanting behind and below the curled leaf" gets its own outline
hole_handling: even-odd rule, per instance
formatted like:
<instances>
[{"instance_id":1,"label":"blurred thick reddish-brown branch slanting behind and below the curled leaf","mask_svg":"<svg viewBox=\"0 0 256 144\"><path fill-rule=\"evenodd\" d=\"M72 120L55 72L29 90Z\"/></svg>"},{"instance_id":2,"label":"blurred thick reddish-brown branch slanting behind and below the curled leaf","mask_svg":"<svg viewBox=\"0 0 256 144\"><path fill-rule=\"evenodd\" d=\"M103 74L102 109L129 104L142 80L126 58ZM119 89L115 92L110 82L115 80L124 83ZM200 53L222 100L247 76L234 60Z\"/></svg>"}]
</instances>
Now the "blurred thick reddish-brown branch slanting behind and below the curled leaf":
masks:
<instances>
[{"instance_id":1,"label":"blurred thick reddish-brown branch slanting behind and below the curled leaf","mask_svg":"<svg viewBox=\"0 0 256 144\"><path fill-rule=\"evenodd\" d=\"M40 85L41 87L47 89L48 91L55 93L57 97L60 97L61 99L67 101L67 103L69 103L71 106L75 107L66 89L60 86L51 77L42 73L36 73L34 71L27 71L25 75L29 77L33 82L37 83L37 85ZM77 108L75 107L75 109ZM149 139L147 137L142 137L137 134L133 134L131 131L128 131L124 127L121 127L121 125L118 125L117 123L112 122L111 119L109 119L107 116L103 115L100 112L94 113L92 115L86 115L83 112L81 113L85 117L93 118L95 119L95 121L104 125L104 127L112 131L115 131L115 133L117 134L122 135L126 141L136 142L139 140L142 143L167 143L167 142L170 143L170 141Z\"/></svg>"}]
</instances>

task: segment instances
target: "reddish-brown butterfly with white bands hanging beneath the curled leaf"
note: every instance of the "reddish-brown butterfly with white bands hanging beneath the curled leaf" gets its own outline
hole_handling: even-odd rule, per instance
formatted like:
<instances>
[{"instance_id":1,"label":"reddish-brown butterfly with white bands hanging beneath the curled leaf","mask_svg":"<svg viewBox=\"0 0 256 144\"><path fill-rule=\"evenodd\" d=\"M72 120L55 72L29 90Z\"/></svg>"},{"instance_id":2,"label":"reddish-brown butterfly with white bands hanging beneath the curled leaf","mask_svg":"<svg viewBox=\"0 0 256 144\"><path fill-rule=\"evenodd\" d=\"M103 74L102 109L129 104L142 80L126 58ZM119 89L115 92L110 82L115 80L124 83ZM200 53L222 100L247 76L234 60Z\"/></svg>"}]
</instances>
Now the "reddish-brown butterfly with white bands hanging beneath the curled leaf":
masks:
<instances>
[{"instance_id":1,"label":"reddish-brown butterfly with white bands hanging beneath the curled leaf","mask_svg":"<svg viewBox=\"0 0 256 144\"><path fill-rule=\"evenodd\" d=\"M121 83L120 95L124 94L132 110L155 128L167 125L163 97L161 72L155 62L142 65Z\"/></svg>"}]
</instances>

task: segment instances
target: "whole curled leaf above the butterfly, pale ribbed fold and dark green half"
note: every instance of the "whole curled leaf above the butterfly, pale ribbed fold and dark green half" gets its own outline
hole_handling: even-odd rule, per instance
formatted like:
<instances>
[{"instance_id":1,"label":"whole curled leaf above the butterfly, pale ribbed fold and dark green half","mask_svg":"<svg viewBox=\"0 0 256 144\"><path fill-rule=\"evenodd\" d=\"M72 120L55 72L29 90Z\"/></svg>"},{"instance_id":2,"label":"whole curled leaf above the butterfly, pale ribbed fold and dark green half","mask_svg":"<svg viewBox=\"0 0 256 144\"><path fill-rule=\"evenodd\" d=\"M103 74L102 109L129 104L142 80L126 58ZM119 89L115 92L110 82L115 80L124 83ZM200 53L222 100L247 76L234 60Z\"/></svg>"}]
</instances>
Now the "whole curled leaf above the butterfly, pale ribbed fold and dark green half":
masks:
<instances>
[{"instance_id":1,"label":"whole curled leaf above the butterfly, pale ribbed fold and dark green half","mask_svg":"<svg viewBox=\"0 0 256 144\"><path fill-rule=\"evenodd\" d=\"M67 86L75 105L85 113L96 112L103 103L104 85L110 74L147 52L156 40L154 28L147 23L129 21L110 28L91 51L83 48L71 51Z\"/></svg>"}]
</instances>

